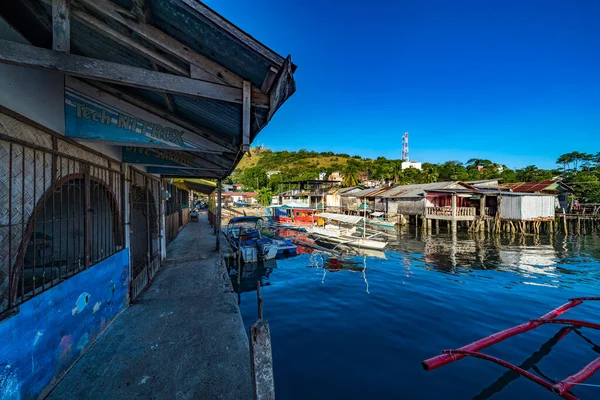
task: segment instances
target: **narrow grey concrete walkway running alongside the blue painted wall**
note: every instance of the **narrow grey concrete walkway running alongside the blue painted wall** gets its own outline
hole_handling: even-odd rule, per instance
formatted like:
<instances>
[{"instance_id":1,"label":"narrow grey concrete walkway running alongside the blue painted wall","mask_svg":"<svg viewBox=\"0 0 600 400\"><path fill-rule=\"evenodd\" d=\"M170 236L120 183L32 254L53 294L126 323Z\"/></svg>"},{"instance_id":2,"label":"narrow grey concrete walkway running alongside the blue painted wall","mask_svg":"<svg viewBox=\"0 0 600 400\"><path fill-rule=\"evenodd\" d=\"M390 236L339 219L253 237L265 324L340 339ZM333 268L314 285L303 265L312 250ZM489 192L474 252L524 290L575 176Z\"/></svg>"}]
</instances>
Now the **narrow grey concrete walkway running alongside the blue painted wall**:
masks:
<instances>
[{"instance_id":1,"label":"narrow grey concrete walkway running alongside the blue painted wall","mask_svg":"<svg viewBox=\"0 0 600 400\"><path fill-rule=\"evenodd\" d=\"M50 399L251 399L248 339L206 215Z\"/></svg>"}]
</instances>

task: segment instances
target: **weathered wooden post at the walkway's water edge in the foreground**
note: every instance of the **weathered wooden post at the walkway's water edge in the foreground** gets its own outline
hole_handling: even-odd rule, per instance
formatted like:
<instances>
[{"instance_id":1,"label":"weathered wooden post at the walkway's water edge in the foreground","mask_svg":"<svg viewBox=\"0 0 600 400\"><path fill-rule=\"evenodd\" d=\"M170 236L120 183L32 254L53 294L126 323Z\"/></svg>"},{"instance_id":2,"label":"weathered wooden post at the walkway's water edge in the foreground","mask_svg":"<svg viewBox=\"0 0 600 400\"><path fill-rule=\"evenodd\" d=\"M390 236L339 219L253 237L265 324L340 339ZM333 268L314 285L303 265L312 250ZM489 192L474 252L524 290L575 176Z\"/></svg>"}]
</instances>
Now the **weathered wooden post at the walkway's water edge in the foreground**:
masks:
<instances>
[{"instance_id":1,"label":"weathered wooden post at the walkway's water edge in the foreground","mask_svg":"<svg viewBox=\"0 0 600 400\"><path fill-rule=\"evenodd\" d=\"M275 399L273 353L269 323L263 320L263 300L257 282L258 319L250 326L250 366L255 400Z\"/></svg>"}]
</instances>

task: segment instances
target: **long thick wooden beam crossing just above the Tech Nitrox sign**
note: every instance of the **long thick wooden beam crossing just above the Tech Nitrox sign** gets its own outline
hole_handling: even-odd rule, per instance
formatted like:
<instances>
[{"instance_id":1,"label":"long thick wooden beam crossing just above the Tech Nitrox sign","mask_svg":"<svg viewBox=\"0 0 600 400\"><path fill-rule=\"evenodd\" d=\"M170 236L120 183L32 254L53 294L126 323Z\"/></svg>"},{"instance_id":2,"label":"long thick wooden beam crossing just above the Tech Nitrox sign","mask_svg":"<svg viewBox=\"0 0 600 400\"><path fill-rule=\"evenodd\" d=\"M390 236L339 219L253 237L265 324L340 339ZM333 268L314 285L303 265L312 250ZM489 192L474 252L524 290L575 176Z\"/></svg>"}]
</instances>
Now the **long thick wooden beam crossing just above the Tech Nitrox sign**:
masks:
<instances>
[{"instance_id":1,"label":"long thick wooden beam crossing just above the Tech Nitrox sign","mask_svg":"<svg viewBox=\"0 0 600 400\"><path fill-rule=\"evenodd\" d=\"M201 97L242 104L242 91L230 86L198 81L129 65L0 40L0 62L22 67L47 69L67 75L132 86L158 92Z\"/></svg>"}]
</instances>

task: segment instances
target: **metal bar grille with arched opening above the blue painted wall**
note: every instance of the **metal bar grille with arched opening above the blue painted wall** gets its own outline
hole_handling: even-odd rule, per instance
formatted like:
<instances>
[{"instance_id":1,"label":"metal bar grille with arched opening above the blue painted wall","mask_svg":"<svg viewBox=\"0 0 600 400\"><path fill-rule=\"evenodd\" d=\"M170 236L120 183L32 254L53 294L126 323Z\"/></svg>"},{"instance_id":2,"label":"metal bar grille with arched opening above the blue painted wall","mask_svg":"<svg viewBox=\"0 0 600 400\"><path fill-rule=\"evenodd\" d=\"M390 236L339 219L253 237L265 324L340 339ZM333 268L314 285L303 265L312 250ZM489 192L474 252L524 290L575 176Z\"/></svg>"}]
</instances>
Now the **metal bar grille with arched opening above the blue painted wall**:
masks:
<instances>
[{"instance_id":1,"label":"metal bar grille with arched opening above the blue painted wall","mask_svg":"<svg viewBox=\"0 0 600 400\"><path fill-rule=\"evenodd\" d=\"M0 134L0 315L124 247L121 172L46 146Z\"/></svg>"}]
</instances>

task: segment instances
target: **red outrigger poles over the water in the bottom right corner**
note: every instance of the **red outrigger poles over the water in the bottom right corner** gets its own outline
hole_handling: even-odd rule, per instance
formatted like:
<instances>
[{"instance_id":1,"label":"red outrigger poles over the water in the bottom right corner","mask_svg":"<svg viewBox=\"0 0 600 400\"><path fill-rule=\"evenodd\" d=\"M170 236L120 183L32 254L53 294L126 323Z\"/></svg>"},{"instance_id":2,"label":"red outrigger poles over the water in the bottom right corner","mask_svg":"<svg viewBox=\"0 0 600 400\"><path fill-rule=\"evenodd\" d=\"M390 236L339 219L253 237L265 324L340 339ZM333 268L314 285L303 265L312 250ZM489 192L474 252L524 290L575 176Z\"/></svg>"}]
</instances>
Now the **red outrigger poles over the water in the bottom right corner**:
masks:
<instances>
[{"instance_id":1,"label":"red outrigger poles over the water in the bottom right corner","mask_svg":"<svg viewBox=\"0 0 600 400\"><path fill-rule=\"evenodd\" d=\"M578 297L578 298L570 299L568 303L565 303L562 306L555 308L554 310L550 311L549 313L542 315L540 318L532 319L529 322L525 322L524 324L517 325L512 328L508 328L503 331L494 333L493 335L490 335L483 339L479 339L476 342L473 342L471 344L463 346L459 349L444 350L444 354L441 354L439 356L429 358L429 359L423 361L423 363L422 363L423 368L425 368L425 370L427 370L427 371L431 371L436 368L442 367L446 364L450 364L454 361L463 359L467 356L481 358L483 360L491 361L491 362L501 365L505 368L508 368L514 372L517 372L521 376L532 380L533 382L562 396L565 399L577 400L577 397L575 397L574 395L569 393L569 389L571 389L573 386L575 386L579 383L582 383L583 381L588 379L590 376L592 376L598 369L600 369L600 358L597 358L596 360L592 361L590 364L585 366L581 371L563 379L562 381L560 381L556 384L552 384L551 382L548 382L548 381L538 377L537 375L534 375L531 372L526 371L522 368L519 368L516 365L513 365L509 362L506 362L506 361L501 360L496 357L489 356L487 354L479 353L479 350L485 349L486 347L489 347L493 344L496 344L505 339L508 339L509 337L528 332L528 331L535 329L538 326L541 326L544 324L562 324L562 325L571 325L574 327L585 327L585 328L600 330L600 324L596 324L593 322L580 321L580 320L576 320L576 319L558 319L558 318L556 318L556 317L560 316L561 314L564 314L568 310L570 310L574 307L577 307L578 305L582 304L586 300L600 300L600 297Z\"/></svg>"}]
</instances>

